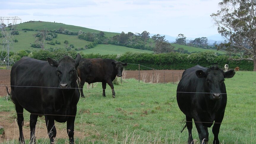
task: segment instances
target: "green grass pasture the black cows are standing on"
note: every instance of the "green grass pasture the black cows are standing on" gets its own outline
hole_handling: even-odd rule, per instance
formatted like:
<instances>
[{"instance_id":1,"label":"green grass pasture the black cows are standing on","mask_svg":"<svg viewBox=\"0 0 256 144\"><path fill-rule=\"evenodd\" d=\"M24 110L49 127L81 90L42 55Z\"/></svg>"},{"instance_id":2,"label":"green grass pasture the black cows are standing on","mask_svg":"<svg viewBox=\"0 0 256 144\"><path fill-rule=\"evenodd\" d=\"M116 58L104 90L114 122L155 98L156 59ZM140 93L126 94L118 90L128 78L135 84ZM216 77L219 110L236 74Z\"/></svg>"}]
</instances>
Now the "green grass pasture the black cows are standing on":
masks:
<instances>
[{"instance_id":1,"label":"green grass pasture the black cows are standing on","mask_svg":"<svg viewBox=\"0 0 256 144\"><path fill-rule=\"evenodd\" d=\"M125 79L114 85L116 98L110 87L102 96L101 83L94 88L84 86L85 98L80 98L75 119L76 143L181 143L187 142L188 132L179 124L185 115L176 101L178 83L138 83ZM239 71L225 80L227 107L220 127L221 143L256 143L256 73ZM18 128L13 103L0 97L0 125L6 136L0 143L17 143ZM24 137L29 141L29 113L24 110ZM56 123L56 143L68 143L66 123ZM198 134L193 124L196 143ZM49 143L44 118L38 118L37 143ZM213 134L209 128L209 143Z\"/></svg>"}]
</instances>

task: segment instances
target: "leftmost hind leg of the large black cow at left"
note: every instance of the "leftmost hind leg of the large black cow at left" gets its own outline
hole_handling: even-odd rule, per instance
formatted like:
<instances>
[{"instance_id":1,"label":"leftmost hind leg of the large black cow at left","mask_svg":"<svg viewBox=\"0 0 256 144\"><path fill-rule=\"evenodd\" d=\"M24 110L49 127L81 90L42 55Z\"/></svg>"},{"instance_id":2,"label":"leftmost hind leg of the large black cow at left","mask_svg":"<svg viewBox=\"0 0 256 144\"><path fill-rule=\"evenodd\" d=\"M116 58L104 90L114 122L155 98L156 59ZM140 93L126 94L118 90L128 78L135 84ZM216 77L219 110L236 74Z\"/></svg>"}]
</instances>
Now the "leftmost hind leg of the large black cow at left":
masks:
<instances>
[{"instance_id":1,"label":"leftmost hind leg of the large black cow at left","mask_svg":"<svg viewBox=\"0 0 256 144\"><path fill-rule=\"evenodd\" d=\"M21 105L19 105L18 102L15 102L15 110L17 113L17 123L19 126L19 132L20 132L19 143L25 144L23 130L22 130L22 127L24 125L23 107L21 107Z\"/></svg>"}]
</instances>

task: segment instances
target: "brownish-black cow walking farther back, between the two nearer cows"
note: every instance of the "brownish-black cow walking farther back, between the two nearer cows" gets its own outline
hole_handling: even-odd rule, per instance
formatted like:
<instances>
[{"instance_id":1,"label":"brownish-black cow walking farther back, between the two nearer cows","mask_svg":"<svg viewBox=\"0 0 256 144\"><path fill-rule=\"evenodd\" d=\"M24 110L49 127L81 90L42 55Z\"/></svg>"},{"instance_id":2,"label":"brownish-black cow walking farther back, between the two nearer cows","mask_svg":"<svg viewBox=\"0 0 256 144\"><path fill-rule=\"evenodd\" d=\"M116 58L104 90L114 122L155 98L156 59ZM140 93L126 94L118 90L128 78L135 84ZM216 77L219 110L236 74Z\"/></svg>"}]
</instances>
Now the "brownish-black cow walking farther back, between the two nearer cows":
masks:
<instances>
[{"instance_id":1,"label":"brownish-black cow walking farther back, between the two nearer cows","mask_svg":"<svg viewBox=\"0 0 256 144\"><path fill-rule=\"evenodd\" d=\"M116 93L112 81L122 76L122 71L127 63L115 61L113 59L102 58L82 58L79 66L77 67L78 76L80 77L80 92L81 97L83 94L83 85L87 83L102 82L103 96L106 96L106 85L110 86L112 90L112 97L115 98Z\"/></svg>"}]
</instances>

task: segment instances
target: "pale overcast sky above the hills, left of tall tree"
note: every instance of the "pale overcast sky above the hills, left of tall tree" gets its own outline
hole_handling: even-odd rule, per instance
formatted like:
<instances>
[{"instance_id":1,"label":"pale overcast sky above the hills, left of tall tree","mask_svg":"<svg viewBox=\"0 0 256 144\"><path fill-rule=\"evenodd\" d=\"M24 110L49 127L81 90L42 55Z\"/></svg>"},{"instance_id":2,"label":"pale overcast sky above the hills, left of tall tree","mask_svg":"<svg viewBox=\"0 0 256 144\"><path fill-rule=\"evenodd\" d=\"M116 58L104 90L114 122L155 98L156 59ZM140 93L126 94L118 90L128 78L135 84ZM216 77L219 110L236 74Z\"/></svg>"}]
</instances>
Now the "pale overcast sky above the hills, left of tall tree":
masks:
<instances>
[{"instance_id":1,"label":"pale overcast sky above the hills, left of tall tree","mask_svg":"<svg viewBox=\"0 0 256 144\"><path fill-rule=\"evenodd\" d=\"M222 0L0 0L0 16L110 32L208 37ZM17 21L20 23L20 20Z\"/></svg>"}]
</instances>

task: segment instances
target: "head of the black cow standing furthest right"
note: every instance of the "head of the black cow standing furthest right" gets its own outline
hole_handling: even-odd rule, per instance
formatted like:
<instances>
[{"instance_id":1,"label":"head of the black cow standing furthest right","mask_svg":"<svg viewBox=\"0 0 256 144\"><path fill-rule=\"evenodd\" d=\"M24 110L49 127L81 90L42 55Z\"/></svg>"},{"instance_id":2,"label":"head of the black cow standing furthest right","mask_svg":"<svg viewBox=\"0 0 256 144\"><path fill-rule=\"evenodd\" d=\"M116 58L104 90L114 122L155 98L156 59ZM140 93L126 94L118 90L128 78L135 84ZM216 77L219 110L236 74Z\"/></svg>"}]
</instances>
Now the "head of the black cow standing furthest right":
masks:
<instances>
[{"instance_id":1,"label":"head of the black cow standing furthest right","mask_svg":"<svg viewBox=\"0 0 256 144\"><path fill-rule=\"evenodd\" d=\"M210 99L219 100L222 98L222 90L225 89L225 78L231 78L235 75L234 70L223 72L218 67L211 67L206 71L197 70L198 78L204 78L204 88L209 93Z\"/></svg>"}]
</instances>

